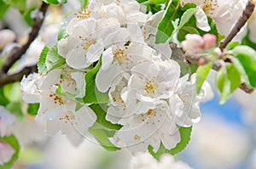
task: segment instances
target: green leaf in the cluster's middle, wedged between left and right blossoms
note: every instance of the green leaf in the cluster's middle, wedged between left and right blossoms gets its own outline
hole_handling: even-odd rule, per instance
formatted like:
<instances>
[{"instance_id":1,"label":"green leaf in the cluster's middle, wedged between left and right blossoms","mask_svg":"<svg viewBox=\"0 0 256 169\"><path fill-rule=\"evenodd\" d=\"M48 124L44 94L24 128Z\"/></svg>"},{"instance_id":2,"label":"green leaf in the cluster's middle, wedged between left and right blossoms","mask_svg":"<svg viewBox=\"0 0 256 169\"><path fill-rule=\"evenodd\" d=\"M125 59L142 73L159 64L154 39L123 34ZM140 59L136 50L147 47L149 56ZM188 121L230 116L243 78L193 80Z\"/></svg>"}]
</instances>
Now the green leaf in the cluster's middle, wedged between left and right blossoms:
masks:
<instances>
[{"instance_id":1,"label":"green leaf in the cluster's middle, wedged between left and right blossoms","mask_svg":"<svg viewBox=\"0 0 256 169\"><path fill-rule=\"evenodd\" d=\"M85 96L84 104L105 104L109 102L108 92L101 93L96 87L96 74L102 65L100 59L97 65L85 74Z\"/></svg>"}]
</instances>

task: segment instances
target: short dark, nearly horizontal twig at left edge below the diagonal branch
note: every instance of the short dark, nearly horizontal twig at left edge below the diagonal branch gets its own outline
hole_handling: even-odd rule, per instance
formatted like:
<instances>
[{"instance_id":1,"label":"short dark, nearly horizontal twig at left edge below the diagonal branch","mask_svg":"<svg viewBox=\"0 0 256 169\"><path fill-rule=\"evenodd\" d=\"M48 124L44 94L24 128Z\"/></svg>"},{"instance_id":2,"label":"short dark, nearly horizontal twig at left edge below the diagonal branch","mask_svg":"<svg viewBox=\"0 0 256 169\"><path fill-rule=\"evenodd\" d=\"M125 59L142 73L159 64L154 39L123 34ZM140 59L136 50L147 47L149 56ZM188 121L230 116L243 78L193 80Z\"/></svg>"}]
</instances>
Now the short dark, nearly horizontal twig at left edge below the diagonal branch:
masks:
<instances>
[{"instance_id":1,"label":"short dark, nearly horizontal twig at left edge below the diagonal branch","mask_svg":"<svg viewBox=\"0 0 256 169\"><path fill-rule=\"evenodd\" d=\"M20 82L23 76L28 76L32 72L37 72L37 71L38 71L37 65L32 65L32 66L23 68L22 70L20 70L20 72L15 73L13 75L4 74L0 78L0 87L3 87L3 85L6 85L12 82Z\"/></svg>"}]
</instances>

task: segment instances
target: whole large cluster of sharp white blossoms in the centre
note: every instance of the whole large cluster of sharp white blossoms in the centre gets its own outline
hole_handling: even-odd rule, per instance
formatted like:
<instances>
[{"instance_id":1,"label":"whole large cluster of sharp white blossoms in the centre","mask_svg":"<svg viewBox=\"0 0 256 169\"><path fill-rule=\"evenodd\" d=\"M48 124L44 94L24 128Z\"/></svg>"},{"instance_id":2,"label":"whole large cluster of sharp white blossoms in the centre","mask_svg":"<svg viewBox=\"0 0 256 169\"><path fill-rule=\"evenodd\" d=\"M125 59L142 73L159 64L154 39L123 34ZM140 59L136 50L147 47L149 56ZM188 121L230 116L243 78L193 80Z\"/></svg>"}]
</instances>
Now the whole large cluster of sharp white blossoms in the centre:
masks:
<instances>
[{"instance_id":1,"label":"whole large cluster of sharp white blossoms in the centre","mask_svg":"<svg viewBox=\"0 0 256 169\"><path fill-rule=\"evenodd\" d=\"M163 11L145 14L137 1L91 1L67 25L67 36L57 42L58 54L66 64L46 75L23 78L22 98L39 103L37 119L46 121L46 132L61 131L77 145L90 135L88 128L97 116L84 104L88 93L87 72L96 72L96 98L108 93L106 120L121 128L113 144L132 152L157 151L162 143L172 149L180 141L178 127L200 121L195 82L181 75L171 59L168 43L155 44L156 27ZM47 66L47 65L46 65ZM102 115L103 116L103 115Z\"/></svg>"}]
</instances>

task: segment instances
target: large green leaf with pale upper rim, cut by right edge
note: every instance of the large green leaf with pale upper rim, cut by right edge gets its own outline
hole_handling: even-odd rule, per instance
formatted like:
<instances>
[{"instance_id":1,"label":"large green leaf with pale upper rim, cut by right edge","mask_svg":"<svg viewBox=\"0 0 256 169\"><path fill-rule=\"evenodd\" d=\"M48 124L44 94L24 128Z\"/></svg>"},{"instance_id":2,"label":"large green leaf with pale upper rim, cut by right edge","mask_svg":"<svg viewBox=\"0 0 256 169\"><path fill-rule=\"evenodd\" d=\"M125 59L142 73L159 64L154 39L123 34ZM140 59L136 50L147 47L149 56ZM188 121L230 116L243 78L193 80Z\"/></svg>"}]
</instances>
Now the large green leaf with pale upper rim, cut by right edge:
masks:
<instances>
[{"instance_id":1,"label":"large green leaf with pale upper rim, cut by right edge","mask_svg":"<svg viewBox=\"0 0 256 169\"><path fill-rule=\"evenodd\" d=\"M231 50L247 74L251 87L256 87L256 52L248 46L237 46Z\"/></svg>"}]
</instances>

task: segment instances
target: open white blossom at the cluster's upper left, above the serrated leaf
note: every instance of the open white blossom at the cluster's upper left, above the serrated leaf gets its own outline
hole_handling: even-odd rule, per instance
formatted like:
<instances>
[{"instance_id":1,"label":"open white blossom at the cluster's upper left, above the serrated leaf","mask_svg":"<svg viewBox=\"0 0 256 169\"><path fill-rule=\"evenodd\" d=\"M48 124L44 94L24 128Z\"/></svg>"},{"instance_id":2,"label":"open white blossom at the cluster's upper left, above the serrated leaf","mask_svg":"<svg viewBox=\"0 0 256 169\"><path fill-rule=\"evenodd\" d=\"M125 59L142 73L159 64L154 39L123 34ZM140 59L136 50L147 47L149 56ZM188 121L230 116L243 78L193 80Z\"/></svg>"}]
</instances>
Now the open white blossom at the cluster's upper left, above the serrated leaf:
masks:
<instances>
[{"instance_id":1,"label":"open white blossom at the cluster's upper left, above the serrated leaf","mask_svg":"<svg viewBox=\"0 0 256 169\"><path fill-rule=\"evenodd\" d=\"M58 42L58 53L66 58L67 65L75 69L84 69L97 61L104 49L104 40L99 31L99 21L80 20L68 25L68 37Z\"/></svg>"}]
</instances>

